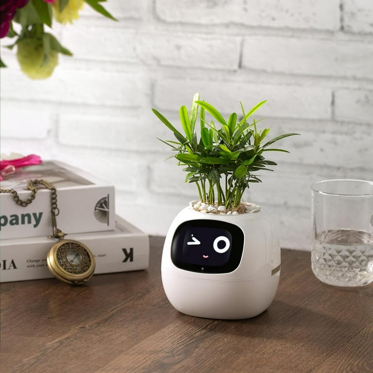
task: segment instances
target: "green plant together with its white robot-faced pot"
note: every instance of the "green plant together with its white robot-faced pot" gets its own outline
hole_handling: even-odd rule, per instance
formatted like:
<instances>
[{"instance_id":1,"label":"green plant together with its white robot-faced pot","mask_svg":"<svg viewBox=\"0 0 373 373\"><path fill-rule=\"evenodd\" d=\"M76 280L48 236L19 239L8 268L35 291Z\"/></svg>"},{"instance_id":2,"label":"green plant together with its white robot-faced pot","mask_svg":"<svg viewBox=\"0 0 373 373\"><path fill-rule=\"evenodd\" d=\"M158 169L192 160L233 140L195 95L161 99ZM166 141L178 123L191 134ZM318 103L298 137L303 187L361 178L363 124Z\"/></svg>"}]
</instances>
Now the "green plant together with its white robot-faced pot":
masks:
<instances>
[{"instance_id":1,"label":"green plant together with its white robot-faced pot","mask_svg":"<svg viewBox=\"0 0 373 373\"><path fill-rule=\"evenodd\" d=\"M265 152L287 152L271 145L297 134L267 140L270 130L249 121L264 103L248 112L240 103L242 117L232 113L224 119L196 93L190 111L185 105L179 110L184 133L153 109L175 136L161 141L199 195L172 221L162 254L163 287L180 312L243 319L263 312L274 298L281 267L278 235L271 216L242 197L250 183L261 181L257 171L276 165Z\"/></svg>"}]
</instances>

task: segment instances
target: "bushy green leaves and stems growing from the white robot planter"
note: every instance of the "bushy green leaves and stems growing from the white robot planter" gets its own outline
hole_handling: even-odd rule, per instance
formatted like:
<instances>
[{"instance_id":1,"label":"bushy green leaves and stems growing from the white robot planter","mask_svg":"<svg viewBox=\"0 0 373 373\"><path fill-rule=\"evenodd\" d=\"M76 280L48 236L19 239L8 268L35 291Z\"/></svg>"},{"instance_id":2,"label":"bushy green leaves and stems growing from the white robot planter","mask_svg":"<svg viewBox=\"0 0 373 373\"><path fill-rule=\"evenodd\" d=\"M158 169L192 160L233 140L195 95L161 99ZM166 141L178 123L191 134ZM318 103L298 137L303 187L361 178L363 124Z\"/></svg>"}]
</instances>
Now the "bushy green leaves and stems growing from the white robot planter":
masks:
<instances>
[{"instance_id":1,"label":"bushy green leaves and stems growing from the white robot planter","mask_svg":"<svg viewBox=\"0 0 373 373\"><path fill-rule=\"evenodd\" d=\"M232 113L228 119L210 103L200 101L198 93L193 97L191 110L188 113L183 105L179 115L184 135L180 133L168 119L156 109L153 113L173 133L177 141L161 140L169 145L176 154L178 165L186 166L186 182L195 183L201 201L205 203L224 204L227 209L236 208L242 195L250 183L259 183L261 180L254 173L261 170L270 170L268 166L276 166L273 161L265 159L263 153L286 152L287 150L268 148L274 142L288 136L299 135L295 133L284 134L264 142L269 129L257 129L257 123L249 117L266 101L259 102L250 111L245 112L242 103L242 119L238 120L237 113ZM200 109L200 131L197 136L195 124ZM216 123L205 119L209 113Z\"/></svg>"}]
</instances>

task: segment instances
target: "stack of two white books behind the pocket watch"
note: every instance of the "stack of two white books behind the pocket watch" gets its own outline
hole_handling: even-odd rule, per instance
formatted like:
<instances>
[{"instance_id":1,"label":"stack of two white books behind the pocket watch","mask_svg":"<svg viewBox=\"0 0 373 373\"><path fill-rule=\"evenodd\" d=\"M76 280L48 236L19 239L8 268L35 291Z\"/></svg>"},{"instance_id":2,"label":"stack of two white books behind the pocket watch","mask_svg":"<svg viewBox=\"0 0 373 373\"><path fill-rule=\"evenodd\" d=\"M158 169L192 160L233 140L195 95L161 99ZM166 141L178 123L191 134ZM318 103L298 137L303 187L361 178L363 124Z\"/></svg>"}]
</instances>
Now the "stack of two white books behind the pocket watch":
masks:
<instances>
[{"instance_id":1,"label":"stack of two white books behind the pocket watch","mask_svg":"<svg viewBox=\"0 0 373 373\"><path fill-rule=\"evenodd\" d=\"M95 274L148 268L149 237L115 214L115 188L99 178L57 161L17 170L1 181L27 200L28 180L47 180L57 190L57 227L95 256ZM52 234L51 191L37 190L26 207L9 193L0 194L0 282L53 277L47 254Z\"/></svg>"}]
</instances>

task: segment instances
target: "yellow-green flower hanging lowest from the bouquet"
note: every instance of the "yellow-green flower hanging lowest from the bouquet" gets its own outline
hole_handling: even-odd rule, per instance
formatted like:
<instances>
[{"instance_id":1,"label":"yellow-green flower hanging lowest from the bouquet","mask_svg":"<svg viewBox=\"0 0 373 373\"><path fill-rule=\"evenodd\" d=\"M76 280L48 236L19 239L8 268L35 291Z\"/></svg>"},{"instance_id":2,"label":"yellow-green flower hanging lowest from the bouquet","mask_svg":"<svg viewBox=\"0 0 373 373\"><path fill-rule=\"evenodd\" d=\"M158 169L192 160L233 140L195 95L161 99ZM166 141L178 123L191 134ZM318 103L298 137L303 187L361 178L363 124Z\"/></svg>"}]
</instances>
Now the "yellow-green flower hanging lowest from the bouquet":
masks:
<instances>
[{"instance_id":1,"label":"yellow-green flower hanging lowest from the bouquet","mask_svg":"<svg viewBox=\"0 0 373 373\"><path fill-rule=\"evenodd\" d=\"M23 39L17 43L17 59L21 70L31 79L47 79L58 65L58 53L49 51L44 65L43 43L40 39Z\"/></svg>"}]
</instances>

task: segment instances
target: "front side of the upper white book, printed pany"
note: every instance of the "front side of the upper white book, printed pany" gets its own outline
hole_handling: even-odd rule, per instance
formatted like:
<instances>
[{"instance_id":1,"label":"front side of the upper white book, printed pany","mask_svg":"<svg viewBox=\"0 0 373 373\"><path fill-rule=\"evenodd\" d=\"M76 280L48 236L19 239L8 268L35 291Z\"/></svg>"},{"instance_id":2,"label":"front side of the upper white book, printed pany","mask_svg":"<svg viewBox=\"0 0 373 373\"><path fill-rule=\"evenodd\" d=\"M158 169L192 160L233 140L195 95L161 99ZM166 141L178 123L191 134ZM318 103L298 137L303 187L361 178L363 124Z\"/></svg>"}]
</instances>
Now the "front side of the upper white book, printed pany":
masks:
<instances>
[{"instance_id":1,"label":"front side of the upper white book, printed pany","mask_svg":"<svg viewBox=\"0 0 373 373\"><path fill-rule=\"evenodd\" d=\"M19 193L22 199L25 193ZM57 226L63 232L110 231L115 229L114 186L79 186L57 189ZM40 189L26 207L17 205L10 194L0 194L1 239L51 235L50 191Z\"/></svg>"}]
</instances>

